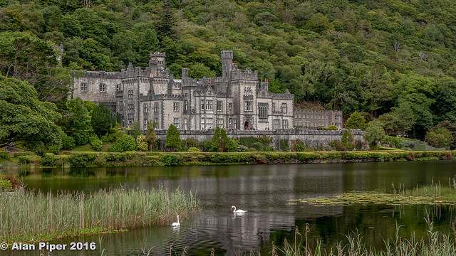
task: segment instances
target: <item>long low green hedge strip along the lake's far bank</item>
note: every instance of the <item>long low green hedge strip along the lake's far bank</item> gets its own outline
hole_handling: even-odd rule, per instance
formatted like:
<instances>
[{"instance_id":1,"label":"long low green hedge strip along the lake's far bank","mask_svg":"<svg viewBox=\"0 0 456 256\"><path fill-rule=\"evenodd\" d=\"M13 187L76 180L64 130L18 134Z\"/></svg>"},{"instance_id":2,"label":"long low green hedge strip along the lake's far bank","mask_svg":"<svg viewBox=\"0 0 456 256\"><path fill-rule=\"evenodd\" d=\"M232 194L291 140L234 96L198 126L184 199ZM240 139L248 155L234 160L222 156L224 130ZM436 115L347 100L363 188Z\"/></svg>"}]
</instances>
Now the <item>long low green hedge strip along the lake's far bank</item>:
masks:
<instances>
[{"instance_id":1,"label":"long low green hedge strip along the lake's far bank","mask_svg":"<svg viewBox=\"0 0 456 256\"><path fill-rule=\"evenodd\" d=\"M328 164L455 159L456 151L251 151L251 152L73 152L4 159L4 169L31 167L207 166L239 164ZM26 160L24 160L26 159ZM28 162L28 164L21 164Z\"/></svg>"}]
</instances>

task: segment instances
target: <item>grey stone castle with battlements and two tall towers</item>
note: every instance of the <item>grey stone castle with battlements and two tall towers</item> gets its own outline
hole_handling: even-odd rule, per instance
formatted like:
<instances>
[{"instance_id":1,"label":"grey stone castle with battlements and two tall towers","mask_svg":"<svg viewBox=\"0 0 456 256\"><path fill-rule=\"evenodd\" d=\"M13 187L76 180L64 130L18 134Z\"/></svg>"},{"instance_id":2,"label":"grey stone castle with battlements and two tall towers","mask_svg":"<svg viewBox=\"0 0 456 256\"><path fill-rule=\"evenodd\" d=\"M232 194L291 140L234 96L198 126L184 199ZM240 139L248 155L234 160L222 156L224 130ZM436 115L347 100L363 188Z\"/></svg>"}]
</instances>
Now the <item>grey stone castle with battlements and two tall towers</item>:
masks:
<instances>
[{"instance_id":1,"label":"grey stone castle with battlements and two tall towers","mask_svg":"<svg viewBox=\"0 0 456 256\"><path fill-rule=\"evenodd\" d=\"M157 122L157 129L175 124L177 129L289 129L293 125L293 100L268 92L267 80L259 82L258 72L244 72L232 62L232 50L222 50L222 77L174 79L165 69L165 53L151 53L149 67L128 65L120 72L88 71L75 78L73 97L115 108L125 126Z\"/></svg>"}]
</instances>

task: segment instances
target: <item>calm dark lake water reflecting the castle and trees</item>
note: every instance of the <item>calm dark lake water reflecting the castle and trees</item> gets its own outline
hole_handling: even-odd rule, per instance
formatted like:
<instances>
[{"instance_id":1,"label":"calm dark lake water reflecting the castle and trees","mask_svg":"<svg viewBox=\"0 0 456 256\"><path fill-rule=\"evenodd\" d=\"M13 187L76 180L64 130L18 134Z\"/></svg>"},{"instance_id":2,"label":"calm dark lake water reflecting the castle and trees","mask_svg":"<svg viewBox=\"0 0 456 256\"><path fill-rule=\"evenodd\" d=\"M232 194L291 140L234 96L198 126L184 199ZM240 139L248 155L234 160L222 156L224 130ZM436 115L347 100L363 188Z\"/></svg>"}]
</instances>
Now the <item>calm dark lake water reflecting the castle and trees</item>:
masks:
<instances>
[{"instance_id":1,"label":"calm dark lake water reflecting the castle and trees","mask_svg":"<svg viewBox=\"0 0 456 256\"><path fill-rule=\"evenodd\" d=\"M392 191L401 183L405 188L444 183L456 175L456 161L390 162L359 164L296 164L258 166L180 166L121 167L92 169L41 169L24 174L27 189L41 191L94 191L98 188L159 187L192 191L202 203L202 214L185 220L179 229L141 228L125 233L58 240L56 243L96 242L94 252L54 252L53 255L138 255L152 247L152 255L168 255L170 246L189 255L235 255L254 250L268 255L271 245L284 238L294 240L295 226L304 234L311 228L310 240L321 239L323 246L344 240L351 230L363 234L368 245L381 248L383 238L395 234L422 235L427 230L425 212L434 228L450 233L456 220L453 208L425 206L329 206L306 204L289 206L288 199L333 196L351 191ZM242 216L230 207L248 210ZM101 239L101 244L100 244ZM240 246L240 249L239 249ZM6 251L9 252L9 251ZM11 253L11 252L9 252ZM13 255L26 255L23 252ZM36 251L29 255L37 255ZM175 252L172 252L175 255Z\"/></svg>"}]
</instances>

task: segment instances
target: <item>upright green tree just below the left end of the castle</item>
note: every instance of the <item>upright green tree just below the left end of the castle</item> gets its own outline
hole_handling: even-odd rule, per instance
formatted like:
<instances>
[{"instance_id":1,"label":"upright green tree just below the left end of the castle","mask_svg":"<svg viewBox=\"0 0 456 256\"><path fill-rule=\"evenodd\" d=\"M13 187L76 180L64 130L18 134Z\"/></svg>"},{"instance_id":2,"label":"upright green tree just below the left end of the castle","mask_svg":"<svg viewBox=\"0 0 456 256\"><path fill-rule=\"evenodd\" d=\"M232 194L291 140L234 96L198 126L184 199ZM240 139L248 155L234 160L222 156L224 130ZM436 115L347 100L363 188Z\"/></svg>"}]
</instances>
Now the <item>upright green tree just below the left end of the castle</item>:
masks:
<instances>
[{"instance_id":1,"label":"upright green tree just below the left end of the castle","mask_svg":"<svg viewBox=\"0 0 456 256\"><path fill-rule=\"evenodd\" d=\"M75 140L78 145L85 145L88 143L90 130L90 116L88 110L84 105L81 98L76 98L66 102L66 107L69 113L69 127L68 133Z\"/></svg>"}]
</instances>

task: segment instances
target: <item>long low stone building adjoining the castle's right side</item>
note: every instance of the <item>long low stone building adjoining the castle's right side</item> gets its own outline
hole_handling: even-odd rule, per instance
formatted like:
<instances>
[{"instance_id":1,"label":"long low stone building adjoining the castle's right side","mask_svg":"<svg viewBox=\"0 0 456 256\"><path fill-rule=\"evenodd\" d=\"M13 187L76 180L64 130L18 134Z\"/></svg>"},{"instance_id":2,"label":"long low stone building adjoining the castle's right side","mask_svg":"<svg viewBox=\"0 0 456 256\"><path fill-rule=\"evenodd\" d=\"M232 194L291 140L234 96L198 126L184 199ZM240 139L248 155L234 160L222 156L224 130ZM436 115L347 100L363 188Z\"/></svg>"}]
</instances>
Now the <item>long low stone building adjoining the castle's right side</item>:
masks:
<instances>
[{"instance_id":1,"label":"long low stone building adjoining the castle's right side","mask_svg":"<svg viewBox=\"0 0 456 256\"><path fill-rule=\"evenodd\" d=\"M307 110L294 109L293 126L294 127L328 127L335 125L342 129L342 112L334 110Z\"/></svg>"}]
</instances>

